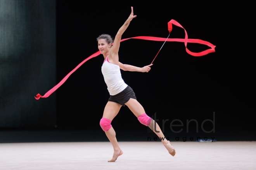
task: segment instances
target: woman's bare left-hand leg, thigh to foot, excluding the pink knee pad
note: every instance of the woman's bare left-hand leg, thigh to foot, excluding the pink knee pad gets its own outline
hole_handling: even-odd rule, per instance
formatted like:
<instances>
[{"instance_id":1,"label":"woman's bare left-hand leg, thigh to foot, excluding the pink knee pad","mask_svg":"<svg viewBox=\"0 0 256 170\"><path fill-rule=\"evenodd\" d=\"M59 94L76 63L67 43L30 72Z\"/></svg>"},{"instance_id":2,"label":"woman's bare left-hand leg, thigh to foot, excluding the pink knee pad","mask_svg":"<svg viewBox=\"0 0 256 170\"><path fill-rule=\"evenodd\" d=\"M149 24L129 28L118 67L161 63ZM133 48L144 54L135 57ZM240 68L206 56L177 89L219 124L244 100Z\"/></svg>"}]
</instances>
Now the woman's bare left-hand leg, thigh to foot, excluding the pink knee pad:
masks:
<instances>
[{"instance_id":1,"label":"woman's bare left-hand leg, thigh to foot, excluding the pink knee pad","mask_svg":"<svg viewBox=\"0 0 256 170\"><path fill-rule=\"evenodd\" d=\"M107 102L102 118L112 121L114 119L114 117L116 117L116 115L118 114L120 108L121 108L121 104L118 104L116 102ZM100 121L100 126L102 126L102 127L104 126L104 123L102 123L102 121ZM113 127L111 126L111 128L108 129L107 131L105 131L105 133L114 148L113 157L108 162L115 162L116 159L118 158L118 156L123 154L123 151L121 150L121 148L118 145L118 141L116 139L116 132L114 131Z\"/></svg>"}]
</instances>

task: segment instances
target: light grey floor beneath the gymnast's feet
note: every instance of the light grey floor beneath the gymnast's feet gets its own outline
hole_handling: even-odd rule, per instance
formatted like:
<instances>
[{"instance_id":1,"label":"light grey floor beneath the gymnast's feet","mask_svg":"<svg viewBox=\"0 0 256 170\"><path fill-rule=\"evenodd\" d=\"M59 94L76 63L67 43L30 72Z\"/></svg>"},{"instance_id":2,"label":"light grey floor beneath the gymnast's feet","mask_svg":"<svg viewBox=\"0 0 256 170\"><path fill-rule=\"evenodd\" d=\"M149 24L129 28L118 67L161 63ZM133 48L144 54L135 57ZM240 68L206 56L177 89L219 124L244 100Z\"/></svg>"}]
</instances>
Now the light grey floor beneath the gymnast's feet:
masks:
<instances>
[{"instance_id":1,"label":"light grey floor beneath the gymnast's feet","mask_svg":"<svg viewBox=\"0 0 256 170\"><path fill-rule=\"evenodd\" d=\"M116 162L109 142L0 143L0 170L256 170L255 141L119 142Z\"/></svg>"}]
</instances>

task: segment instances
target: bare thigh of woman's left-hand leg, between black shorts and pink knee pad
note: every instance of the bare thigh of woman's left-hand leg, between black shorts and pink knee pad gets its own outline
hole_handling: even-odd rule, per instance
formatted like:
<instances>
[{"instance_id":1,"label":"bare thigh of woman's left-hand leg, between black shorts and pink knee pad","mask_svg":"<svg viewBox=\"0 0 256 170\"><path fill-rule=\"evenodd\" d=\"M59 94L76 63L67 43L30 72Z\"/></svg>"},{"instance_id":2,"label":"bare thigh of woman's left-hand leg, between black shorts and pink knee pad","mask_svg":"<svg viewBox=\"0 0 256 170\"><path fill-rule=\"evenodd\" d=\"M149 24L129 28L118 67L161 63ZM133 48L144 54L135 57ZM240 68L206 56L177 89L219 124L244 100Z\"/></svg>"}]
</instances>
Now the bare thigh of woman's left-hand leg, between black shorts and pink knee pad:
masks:
<instances>
[{"instance_id":1,"label":"bare thigh of woman's left-hand leg, between black shorts and pink knee pad","mask_svg":"<svg viewBox=\"0 0 256 170\"><path fill-rule=\"evenodd\" d=\"M114 117L116 117L116 115L118 114L121 106L121 104L116 102L107 102L102 117L112 121Z\"/></svg>"}]
</instances>

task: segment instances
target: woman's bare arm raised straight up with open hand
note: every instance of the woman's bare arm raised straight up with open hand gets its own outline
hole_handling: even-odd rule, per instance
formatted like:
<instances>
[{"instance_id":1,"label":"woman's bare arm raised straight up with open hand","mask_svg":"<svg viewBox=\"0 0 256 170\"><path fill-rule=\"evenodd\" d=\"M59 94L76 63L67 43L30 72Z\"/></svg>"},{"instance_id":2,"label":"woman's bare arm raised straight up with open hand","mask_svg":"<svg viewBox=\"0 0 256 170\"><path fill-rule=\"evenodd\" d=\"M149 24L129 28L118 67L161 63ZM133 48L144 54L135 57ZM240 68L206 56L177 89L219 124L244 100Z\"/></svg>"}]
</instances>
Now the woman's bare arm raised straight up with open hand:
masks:
<instances>
[{"instance_id":1,"label":"woman's bare arm raised straight up with open hand","mask_svg":"<svg viewBox=\"0 0 256 170\"><path fill-rule=\"evenodd\" d=\"M111 56L113 64L118 65L118 62L119 62L118 51L119 51L119 47L120 47L121 37L122 37L123 33L125 32L125 30L127 29L127 27L129 26L131 20L135 17L137 17L137 15L133 15L133 7L131 7L131 14L128 17L128 19L126 20L126 22L123 24L123 26L121 26L121 28L118 30L116 37L114 39L113 46L111 47L111 49L109 51L109 56Z\"/></svg>"}]
</instances>

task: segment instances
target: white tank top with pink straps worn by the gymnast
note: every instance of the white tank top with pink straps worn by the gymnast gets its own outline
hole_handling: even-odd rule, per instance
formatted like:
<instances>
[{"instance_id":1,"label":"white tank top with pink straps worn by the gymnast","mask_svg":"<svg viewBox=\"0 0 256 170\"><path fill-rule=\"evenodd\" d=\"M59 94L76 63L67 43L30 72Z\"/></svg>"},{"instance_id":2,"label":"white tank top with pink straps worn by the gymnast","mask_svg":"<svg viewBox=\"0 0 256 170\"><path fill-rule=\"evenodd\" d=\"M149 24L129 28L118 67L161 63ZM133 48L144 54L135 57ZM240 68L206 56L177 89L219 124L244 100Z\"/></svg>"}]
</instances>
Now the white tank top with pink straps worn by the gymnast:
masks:
<instances>
[{"instance_id":1,"label":"white tank top with pink straps worn by the gymnast","mask_svg":"<svg viewBox=\"0 0 256 170\"><path fill-rule=\"evenodd\" d=\"M104 76L105 83L107 84L109 94L116 95L122 92L128 85L124 82L121 76L120 67L109 63L107 57L102 64L101 72Z\"/></svg>"}]
</instances>

